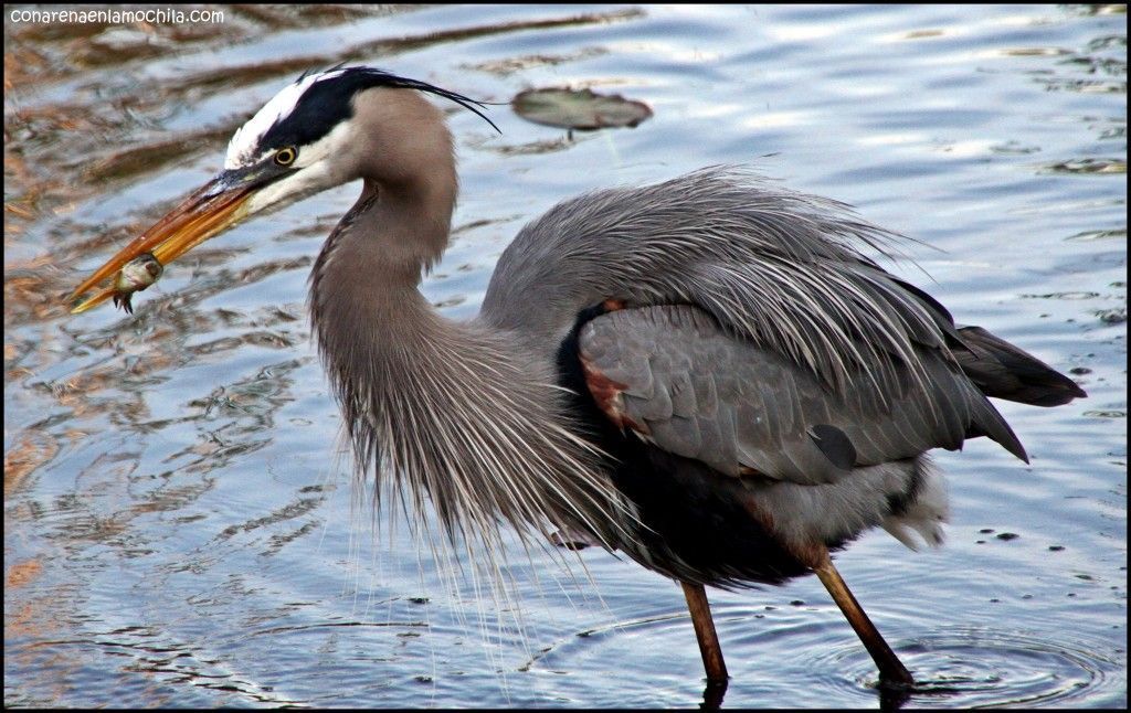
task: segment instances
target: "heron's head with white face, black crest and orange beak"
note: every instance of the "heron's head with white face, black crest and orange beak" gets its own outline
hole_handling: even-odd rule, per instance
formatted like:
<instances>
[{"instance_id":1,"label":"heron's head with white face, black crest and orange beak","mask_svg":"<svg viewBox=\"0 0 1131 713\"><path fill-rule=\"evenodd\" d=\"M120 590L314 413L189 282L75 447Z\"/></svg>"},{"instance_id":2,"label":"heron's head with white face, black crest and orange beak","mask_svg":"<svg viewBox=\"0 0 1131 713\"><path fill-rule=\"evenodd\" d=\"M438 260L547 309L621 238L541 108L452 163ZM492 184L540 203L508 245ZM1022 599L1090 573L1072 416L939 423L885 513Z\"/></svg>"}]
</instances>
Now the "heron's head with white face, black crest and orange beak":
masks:
<instances>
[{"instance_id":1,"label":"heron's head with white face, black crest and orange beak","mask_svg":"<svg viewBox=\"0 0 1131 713\"><path fill-rule=\"evenodd\" d=\"M416 89L456 102L494 127L480 103L447 89L370 67L304 75L283 88L232 137L224 169L90 275L75 299L143 253L166 266L240 221L354 181L396 179L407 151L428 144L422 123L447 136L443 122ZM423 136L422 136L423 133ZM434 142L433 142L434 144ZM446 150L450 155L450 139ZM113 286L75 305L85 312L114 294Z\"/></svg>"}]
</instances>

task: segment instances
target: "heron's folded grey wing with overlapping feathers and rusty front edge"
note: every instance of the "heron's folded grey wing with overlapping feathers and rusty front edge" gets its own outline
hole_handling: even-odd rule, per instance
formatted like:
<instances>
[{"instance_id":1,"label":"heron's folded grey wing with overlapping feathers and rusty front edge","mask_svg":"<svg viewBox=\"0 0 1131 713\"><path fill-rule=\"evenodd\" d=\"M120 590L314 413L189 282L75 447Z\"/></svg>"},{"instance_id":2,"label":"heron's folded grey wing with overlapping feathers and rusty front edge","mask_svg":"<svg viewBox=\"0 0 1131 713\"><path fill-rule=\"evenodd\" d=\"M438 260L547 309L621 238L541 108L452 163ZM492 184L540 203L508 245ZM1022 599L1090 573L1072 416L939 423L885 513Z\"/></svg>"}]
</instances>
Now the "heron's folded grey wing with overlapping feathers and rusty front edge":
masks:
<instances>
[{"instance_id":1,"label":"heron's folded grey wing with overlapping feathers and rusty front edge","mask_svg":"<svg viewBox=\"0 0 1131 713\"><path fill-rule=\"evenodd\" d=\"M853 371L837 390L688 305L610 312L578 344L589 368L623 384L627 423L726 475L831 482L983 434L1025 458L985 395L930 347L920 347L922 373Z\"/></svg>"}]
</instances>

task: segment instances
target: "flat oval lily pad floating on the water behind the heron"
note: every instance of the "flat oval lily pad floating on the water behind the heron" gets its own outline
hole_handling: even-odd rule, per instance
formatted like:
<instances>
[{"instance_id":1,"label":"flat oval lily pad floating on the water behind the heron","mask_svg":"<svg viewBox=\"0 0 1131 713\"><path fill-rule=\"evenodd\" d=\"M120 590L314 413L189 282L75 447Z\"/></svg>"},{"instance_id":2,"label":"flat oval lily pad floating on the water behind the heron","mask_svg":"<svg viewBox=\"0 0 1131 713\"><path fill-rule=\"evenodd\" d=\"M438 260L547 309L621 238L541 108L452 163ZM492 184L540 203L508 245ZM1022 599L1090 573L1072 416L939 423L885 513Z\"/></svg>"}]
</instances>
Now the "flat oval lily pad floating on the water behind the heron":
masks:
<instances>
[{"instance_id":1,"label":"flat oval lily pad floating on the water behind the heron","mask_svg":"<svg viewBox=\"0 0 1131 713\"><path fill-rule=\"evenodd\" d=\"M511 99L510 105L527 121L561 129L634 127L651 116L644 102L590 89L527 89Z\"/></svg>"}]
</instances>

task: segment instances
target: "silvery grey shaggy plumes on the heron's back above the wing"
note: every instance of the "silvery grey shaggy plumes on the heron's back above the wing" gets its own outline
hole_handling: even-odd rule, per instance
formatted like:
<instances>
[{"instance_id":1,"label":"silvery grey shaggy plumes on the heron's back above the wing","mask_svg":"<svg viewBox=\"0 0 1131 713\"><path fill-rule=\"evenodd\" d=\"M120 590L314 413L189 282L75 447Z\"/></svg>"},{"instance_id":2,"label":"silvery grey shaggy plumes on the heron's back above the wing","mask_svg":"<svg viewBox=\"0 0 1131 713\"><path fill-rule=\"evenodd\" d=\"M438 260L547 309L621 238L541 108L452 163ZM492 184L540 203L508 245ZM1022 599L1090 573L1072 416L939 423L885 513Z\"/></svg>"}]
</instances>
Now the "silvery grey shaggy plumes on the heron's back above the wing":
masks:
<instances>
[{"instance_id":1,"label":"silvery grey shaggy plumes on the heron's back above the wing","mask_svg":"<svg viewBox=\"0 0 1131 713\"><path fill-rule=\"evenodd\" d=\"M914 368L913 342L942 344L939 316L855 247L895 241L843 203L703 168L551 209L500 258L483 314L552 340L607 295L699 305L843 390L853 364Z\"/></svg>"}]
</instances>

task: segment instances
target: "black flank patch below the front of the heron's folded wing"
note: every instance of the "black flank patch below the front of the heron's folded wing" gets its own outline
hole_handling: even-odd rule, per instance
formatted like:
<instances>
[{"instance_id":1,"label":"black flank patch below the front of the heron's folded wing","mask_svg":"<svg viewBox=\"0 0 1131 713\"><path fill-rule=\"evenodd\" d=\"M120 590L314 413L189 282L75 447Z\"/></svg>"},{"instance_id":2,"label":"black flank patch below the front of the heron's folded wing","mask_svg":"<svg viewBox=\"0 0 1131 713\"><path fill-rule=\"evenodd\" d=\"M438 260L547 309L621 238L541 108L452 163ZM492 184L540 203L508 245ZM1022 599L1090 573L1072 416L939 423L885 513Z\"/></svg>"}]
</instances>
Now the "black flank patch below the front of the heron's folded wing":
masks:
<instances>
[{"instance_id":1,"label":"black flank patch below the front of the heron's folded wing","mask_svg":"<svg viewBox=\"0 0 1131 713\"><path fill-rule=\"evenodd\" d=\"M618 306L611 301L578 314L559 347L558 367L560 383L575 393L569 407L584 429L580 435L612 457L613 482L636 503L646 525L636 536L647 555L625 554L661 574L724 588L774 584L806 574L809 567L751 513L737 478L656 447L622 431L602 411L589 390L578 336L588 321Z\"/></svg>"}]
</instances>

